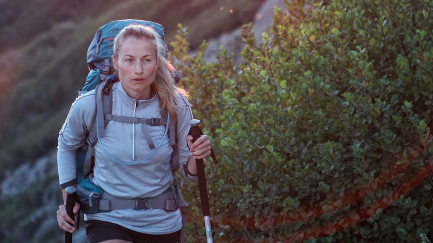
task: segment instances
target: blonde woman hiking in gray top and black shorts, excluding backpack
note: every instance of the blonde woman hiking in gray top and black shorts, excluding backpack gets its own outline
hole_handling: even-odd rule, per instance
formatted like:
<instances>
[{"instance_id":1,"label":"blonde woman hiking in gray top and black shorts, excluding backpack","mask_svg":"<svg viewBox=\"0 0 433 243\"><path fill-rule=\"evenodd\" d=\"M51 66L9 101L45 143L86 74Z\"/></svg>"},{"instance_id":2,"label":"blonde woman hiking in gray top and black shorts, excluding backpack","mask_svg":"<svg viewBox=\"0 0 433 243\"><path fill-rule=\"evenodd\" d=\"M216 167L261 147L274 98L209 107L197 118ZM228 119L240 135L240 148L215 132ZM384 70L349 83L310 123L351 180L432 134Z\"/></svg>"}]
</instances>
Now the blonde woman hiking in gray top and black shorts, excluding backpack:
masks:
<instances>
[{"instance_id":1,"label":"blonde woman hiking in gray top and black shorts, excluding backpack","mask_svg":"<svg viewBox=\"0 0 433 243\"><path fill-rule=\"evenodd\" d=\"M185 92L173 81L170 64L159 35L141 25L123 29L114 41L113 65L120 82L113 85L113 115L142 118L161 117L168 110L177 121L177 150L185 178L196 181L195 159L210 155L210 142L202 135L194 143L188 135L188 122L193 119ZM61 187L75 179L75 151L80 147L95 113L95 92L79 97L71 107L59 134L58 167ZM173 185L170 168L172 147L164 136L164 126L111 121L105 136L96 143L92 182L116 198L155 198ZM155 151L146 144L142 129L150 134ZM133 163L154 153L141 163ZM130 161L132 164L116 161ZM63 190L63 197L66 193ZM76 213L79 205L73 211ZM180 211L161 208L115 209L85 214L89 242L178 242L182 219ZM75 228L60 205L57 220L61 229Z\"/></svg>"}]
</instances>

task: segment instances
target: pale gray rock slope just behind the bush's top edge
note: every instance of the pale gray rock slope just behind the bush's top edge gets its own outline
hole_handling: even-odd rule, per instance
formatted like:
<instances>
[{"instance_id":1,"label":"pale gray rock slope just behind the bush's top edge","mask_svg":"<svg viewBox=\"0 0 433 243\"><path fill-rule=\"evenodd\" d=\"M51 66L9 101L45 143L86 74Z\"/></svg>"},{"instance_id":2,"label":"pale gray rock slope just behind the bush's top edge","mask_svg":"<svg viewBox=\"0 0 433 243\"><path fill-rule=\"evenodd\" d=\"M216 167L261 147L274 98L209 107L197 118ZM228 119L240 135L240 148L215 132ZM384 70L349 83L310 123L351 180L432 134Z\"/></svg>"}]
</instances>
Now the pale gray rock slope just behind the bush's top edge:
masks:
<instances>
[{"instance_id":1,"label":"pale gray rock slope just behind the bush's top edge","mask_svg":"<svg viewBox=\"0 0 433 243\"><path fill-rule=\"evenodd\" d=\"M283 7L283 0L268 0L266 1L259 11L256 13L253 22L253 32L258 41L262 41L262 34L270 29L274 16L274 6ZM205 52L205 59L207 62L216 62L215 54L220 52L221 46L228 50L228 53L240 53L244 47L242 37L240 35L241 28L232 32L224 33L217 39L207 41L208 48ZM193 56L196 51L192 51ZM240 62L240 57L235 56L235 63Z\"/></svg>"}]
</instances>

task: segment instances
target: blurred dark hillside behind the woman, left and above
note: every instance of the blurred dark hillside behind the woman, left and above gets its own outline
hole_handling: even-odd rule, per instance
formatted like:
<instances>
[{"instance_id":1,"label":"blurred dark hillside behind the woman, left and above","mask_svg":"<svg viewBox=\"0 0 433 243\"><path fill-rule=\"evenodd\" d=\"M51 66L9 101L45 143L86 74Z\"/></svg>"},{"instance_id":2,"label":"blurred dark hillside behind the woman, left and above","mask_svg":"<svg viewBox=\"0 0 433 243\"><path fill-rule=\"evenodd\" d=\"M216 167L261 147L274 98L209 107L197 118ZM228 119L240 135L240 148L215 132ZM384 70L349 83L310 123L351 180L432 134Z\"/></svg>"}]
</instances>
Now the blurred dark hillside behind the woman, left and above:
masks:
<instances>
[{"instance_id":1,"label":"blurred dark hillside behind the woman, left and above","mask_svg":"<svg viewBox=\"0 0 433 243\"><path fill-rule=\"evenodd\" d=\"M252 22L264 2L0 2L0 242L59 242L57 135L85 82L87 47L100 26L118 19L151 20L164 26L170 43L181 23L192 50ZM36 164L43 164L38 171ZM23 181L34 185L20 188L27 185Z\"/></svg>"}]
</instances>

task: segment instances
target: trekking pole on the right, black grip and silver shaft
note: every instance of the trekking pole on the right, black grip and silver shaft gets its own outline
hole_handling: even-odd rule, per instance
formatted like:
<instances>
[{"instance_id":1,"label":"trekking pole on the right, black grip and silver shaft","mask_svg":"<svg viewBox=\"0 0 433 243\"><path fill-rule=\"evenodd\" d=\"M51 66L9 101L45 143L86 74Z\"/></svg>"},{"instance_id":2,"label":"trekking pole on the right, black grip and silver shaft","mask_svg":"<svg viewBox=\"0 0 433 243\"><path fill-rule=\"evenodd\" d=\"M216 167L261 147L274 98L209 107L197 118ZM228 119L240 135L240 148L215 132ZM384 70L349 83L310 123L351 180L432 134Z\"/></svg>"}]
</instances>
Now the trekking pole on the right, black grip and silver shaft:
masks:
<instances>
[{"instance_id":1,"label":"trekking pole on the right, black grip and silver shaft","mask_svg":"<svg viewBox=\"0 0 433 243\"><path fill-rule=\"evenodd\" d=\"M193 142L200 137L200 128L198 127L200 120L193 119L189 122L191 125L191 136ZM201 211L204 217L204 228L206 229L207 243L212 243L212 230L210 228L210 210L209 210L209 199L207 198L207 187L206 178L204 177L204 165L203 159L196 159L195 163L197 165L197 176L198 176L198 189L200 191L201 200Z\"/></svg>"}]
</instances>

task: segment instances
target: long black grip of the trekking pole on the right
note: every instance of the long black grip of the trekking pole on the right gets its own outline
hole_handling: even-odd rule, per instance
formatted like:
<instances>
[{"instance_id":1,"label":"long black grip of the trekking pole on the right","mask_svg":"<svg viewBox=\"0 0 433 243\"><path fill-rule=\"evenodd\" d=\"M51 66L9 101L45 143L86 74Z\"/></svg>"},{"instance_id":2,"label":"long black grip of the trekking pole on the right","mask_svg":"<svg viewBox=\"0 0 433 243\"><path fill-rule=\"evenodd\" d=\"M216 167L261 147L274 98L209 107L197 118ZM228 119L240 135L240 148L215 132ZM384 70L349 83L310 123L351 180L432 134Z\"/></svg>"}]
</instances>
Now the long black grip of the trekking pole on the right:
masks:
<instances>
[{"instance_id":1,"label":"long black grip of the trekking pole on the right","mask_svg":"<svg viewBox=\"0 0 433 243\"><path fill-rule=\"evenodd\" d=\"M193 119L189 122L191 125L190 134L192 136L192 141L195 142L200 137L200 128L198 124L200 120ZM207 186L206 186L206 178L204 176L204 164L203 159L195 160L197 166L197 177L198 177L198 189L200 191L200 200L201 200L201 210L203 212L203 216L209 216L209 200L207 197Z\"/></svg>"}]
</instances>

